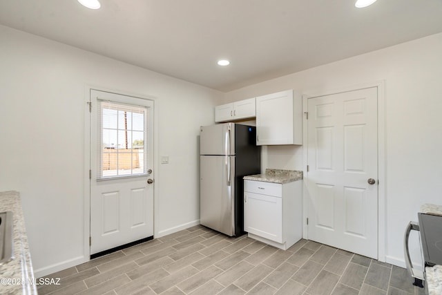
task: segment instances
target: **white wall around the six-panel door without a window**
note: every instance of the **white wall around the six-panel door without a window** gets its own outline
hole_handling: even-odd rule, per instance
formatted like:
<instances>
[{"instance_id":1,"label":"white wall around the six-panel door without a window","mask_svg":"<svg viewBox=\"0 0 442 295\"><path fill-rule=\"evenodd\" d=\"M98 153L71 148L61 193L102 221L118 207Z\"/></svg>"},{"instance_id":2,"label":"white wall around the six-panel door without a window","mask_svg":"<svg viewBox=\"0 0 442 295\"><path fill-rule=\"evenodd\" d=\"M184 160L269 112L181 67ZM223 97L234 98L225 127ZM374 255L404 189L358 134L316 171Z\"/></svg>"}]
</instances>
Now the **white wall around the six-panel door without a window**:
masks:
<instances>
[{"instance_id":1,"label":"white wall around the six-panel door without a window","mask_svg":"<svg viewBox=\"0 0 442 295\"><path fill-rule=\"evenodd\" d=\"M224 103L292 88L308 94L384 80L385 254L387 262L405 266L407 222L417 221L421 204L442 204L441 53L442 34L432 35L231 91ZM302 146L269 146L266 157L269 168L302 169ZM417 235L411 239L412 258L419 261Z\"/></svg>"}]
</instances>

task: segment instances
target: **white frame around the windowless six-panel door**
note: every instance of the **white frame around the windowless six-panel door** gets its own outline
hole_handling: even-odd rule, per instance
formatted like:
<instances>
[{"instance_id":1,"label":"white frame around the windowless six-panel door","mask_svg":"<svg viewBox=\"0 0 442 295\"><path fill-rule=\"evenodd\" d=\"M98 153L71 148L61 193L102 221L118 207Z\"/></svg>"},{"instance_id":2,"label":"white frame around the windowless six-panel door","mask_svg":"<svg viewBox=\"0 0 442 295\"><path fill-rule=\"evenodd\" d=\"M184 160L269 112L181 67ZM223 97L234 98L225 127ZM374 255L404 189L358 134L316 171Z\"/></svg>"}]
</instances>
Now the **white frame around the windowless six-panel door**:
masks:
<instances>
[{"instance_id":1,"label":"white frame around the windowless six-panel door","mask_svg":"<svg viewBox=\"0 0 442 295\"><path fill-rule=\"evenodd\" d=\"M338 93L345 93L349 91L357 91L365 88L377 88L378 94L378 260L385 262L385 225L386 225L386 208L385 208L385 81L372 82L367 84L358 84L354 86L345 86L341 88L329 89L329 90L320 90L320 91L311 91L302 94L302 140L304 142L303 146L303 155L302 160L304 162L304 166L302 171L304 173L303 184L304 189L302 190L302 215L308 216L308 196L307 196L307 151L308 151L308 120L307 120L307 112L308 112L308 104L307 99L325 96L325 95L333 95ZM307 229L307 220L302 222L302 237L308 239L308 229Z\"/></svg>"}]
</instances>

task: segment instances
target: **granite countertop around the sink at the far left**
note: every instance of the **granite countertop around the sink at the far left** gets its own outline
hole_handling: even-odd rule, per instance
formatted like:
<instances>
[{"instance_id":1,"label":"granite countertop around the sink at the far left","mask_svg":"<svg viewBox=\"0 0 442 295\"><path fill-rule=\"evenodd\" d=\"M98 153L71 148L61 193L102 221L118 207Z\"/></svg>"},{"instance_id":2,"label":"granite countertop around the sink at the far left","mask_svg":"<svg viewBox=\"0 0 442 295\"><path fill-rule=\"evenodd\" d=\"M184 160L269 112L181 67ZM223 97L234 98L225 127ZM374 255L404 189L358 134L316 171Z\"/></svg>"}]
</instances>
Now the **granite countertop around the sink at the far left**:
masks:
<instances>
[{"instance_id":1,"label":"granite countertop around the sink at the far left","mask_svg":"<svg viewBox=\"0 0 442 295\"><path fill-rule=\"evenodd\" d=\"M0 192L0 212L3 211L13 213L14 258L0 265L0 294L37 294L21 199L17 191Z\"/></svg>"}]
</instances>

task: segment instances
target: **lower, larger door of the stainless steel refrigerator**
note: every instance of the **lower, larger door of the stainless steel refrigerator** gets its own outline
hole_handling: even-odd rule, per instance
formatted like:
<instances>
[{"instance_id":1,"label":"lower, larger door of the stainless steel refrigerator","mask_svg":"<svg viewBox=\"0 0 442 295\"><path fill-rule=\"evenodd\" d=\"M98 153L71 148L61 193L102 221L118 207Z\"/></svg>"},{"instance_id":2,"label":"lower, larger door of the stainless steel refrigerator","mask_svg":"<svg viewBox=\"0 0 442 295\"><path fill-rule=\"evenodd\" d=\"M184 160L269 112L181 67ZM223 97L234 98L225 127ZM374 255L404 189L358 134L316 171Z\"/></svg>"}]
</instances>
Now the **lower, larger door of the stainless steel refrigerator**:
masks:
<instances>
[{"instance_id":1,"label":"lower, larger door of the stainless steel refrigerator","mask_svg":"<svg viewBox=\"0 0 442 295\"><path fill-rule=\"evenodd\" d=\"M200 156L200 223L235 235L235 157Z\"/></svg>"}]
</instances>

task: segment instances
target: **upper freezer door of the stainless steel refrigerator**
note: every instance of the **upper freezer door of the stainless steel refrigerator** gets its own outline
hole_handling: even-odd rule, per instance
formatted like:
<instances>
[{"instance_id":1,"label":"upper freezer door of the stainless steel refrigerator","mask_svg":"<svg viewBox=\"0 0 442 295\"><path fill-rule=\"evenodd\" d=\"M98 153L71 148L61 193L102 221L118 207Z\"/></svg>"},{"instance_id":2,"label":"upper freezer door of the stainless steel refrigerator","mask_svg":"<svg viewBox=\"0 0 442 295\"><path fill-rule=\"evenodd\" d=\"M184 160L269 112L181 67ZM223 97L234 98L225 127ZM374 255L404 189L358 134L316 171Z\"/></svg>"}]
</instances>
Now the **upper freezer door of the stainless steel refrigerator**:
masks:
<instances>
[{"instance_id":1,"label":"upper freezer door of the stainless steel refrigerator","mask_svg":"<svg viewBox=\"0 0 442 295\"><path fill-rule=\"evenodd\" d=\"M225 123L200 128L200 155L234 155L235 124Z\"/></svg>"}]
</instances>

